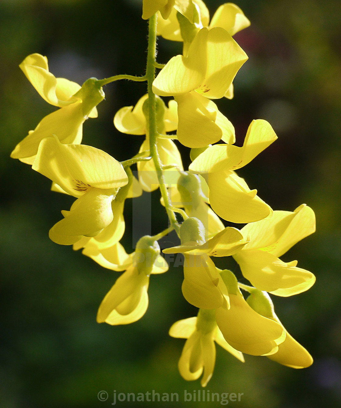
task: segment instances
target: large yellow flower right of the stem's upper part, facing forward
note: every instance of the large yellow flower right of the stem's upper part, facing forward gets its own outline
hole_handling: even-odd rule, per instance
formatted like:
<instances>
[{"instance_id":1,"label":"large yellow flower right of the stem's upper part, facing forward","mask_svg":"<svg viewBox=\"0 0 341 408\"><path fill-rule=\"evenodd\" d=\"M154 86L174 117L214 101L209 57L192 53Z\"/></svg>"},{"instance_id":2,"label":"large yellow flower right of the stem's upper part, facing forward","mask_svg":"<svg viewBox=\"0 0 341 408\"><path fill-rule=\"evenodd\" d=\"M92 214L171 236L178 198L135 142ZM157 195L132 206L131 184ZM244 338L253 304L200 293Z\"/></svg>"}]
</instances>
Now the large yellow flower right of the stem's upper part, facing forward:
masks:
<instances>
[{"instance_id":1,"label":"large yellow flower right of the stem's upper part, facing forward","mask_svg":"<svg viewBox=\"0 0 341 408\"><path fill-rule=\"evenodd\" d=\"M153 82L153 92L174 96L178 103L179 141L188 147L203 147L223 139L234 143L234 128L216 105L229 90L247 55L220 27L201 29L188 49L188 56L168 61Z\"/></svg>"}]
</instances>

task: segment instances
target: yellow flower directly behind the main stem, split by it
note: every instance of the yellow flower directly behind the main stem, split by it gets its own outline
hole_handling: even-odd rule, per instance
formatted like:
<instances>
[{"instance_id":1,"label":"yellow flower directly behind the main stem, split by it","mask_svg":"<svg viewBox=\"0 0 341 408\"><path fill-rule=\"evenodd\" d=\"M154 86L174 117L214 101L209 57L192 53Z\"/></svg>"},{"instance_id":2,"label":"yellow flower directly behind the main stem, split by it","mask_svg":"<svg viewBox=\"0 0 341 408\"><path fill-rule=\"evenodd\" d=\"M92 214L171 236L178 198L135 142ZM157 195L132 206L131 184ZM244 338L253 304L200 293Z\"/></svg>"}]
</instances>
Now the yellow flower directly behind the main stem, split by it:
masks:
<instances>
[{"instance_id":1,"label":"yellow flower directly behind the main stem, split by it","mask_svg":"<svg viewBox=\"0 0 341 408\"><path fill-rule=\"evenodd\" d=\"M139 151L139 153L146 152L144 154L145 157L149 155L149 128L145 116L146 103L148 103L148 95L142 96L134 109L133 106L125 106L121 108L114 117L114 125L120 132L131 135L146 135L146 139L142 143ZM157 98L157 131L160 135L177 129L176 109L177 103L174 100L168 103L167 108L164 102L160 98ZM183 170L181 155L173 140L157 137L156 147L164 166L175 164L178 169ZM159 182L157 180L153 160L138 162L137 166L142 189L149 192L156 190L159 186ZM174 173L174 169L165 171Z\"/></svg>"}]
</instances>

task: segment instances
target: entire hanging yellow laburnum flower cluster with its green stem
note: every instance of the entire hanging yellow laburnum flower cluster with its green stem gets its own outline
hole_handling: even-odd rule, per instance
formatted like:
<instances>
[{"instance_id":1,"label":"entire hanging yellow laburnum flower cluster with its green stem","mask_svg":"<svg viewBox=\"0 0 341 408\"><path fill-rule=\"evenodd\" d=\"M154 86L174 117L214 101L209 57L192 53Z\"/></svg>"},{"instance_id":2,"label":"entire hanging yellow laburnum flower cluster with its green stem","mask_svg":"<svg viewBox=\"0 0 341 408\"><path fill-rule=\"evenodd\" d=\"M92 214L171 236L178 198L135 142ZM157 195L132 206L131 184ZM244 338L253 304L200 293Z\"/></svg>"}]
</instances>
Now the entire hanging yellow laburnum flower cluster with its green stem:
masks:
<instances>
[{"instance_id":1,"label":"entire hanging yellow laburnum flower cluster with its green stem","mask_svg":"<svg viewBox=\"0 0 341 408\"><path fill-rule=\"evenodd\" d=\"M314 212L305 204L292 212L273 211L249 188L236 171L277 136L267 121L253 120L243 146L236 146L233 124L213 102L233 98L233 80L247 55L232 35L250 22L232 3L221 5L210 20L202 0L143 0L142 18L149 19L144 77L90 78L79 86L55 78L42 55L29 55L20 64L39 95L59 109L29 131L11 157L48 177L53 191L76 199L50 229L50 239L82 248L104 268L123 272L97 314L98 322L117 325L136 322L146 312L150 276L168 270L157 241L177 232L180 244L163 252L183 254L182 293L199 309L197 317L175 322L169 331L186 339L179 359L186 380L203 374L201 385L206 386L214 370L214 342L240 361L246 353L293 368L308 367L312 357L286 331L269 293L292 296L314 284L314 275L297 267L297 261L280 259L315 231ZM158 64L156 35L182 41L183 55ZM135 106L123 107L114 116L118 131L145 137L136 156L121 163L81 144L83 123L97 117L96 106L104 99L103 85L118 79L148 83L148 93ZM174 99L166 106L160 96ZM173 140L191 148L188 171ZM131 171L136 163L138 179ZM125 200L157 188L169 228L141 237L135 252L127 254L120 244ZM225 227L221 219L246 225L240 230ZM228 256L250 285L212 260Z\"/></svg>"}]
</instances>

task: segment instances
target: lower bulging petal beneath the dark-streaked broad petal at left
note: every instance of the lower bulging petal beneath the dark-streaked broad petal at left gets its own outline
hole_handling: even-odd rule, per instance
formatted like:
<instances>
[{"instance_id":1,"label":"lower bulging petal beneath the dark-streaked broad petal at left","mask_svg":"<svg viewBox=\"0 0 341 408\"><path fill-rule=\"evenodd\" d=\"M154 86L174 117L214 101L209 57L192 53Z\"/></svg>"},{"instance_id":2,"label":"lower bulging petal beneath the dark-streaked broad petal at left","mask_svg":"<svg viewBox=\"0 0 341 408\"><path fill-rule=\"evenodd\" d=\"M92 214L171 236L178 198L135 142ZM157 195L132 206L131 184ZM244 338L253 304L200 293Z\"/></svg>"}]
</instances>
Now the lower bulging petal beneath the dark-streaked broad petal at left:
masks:
<instances>
[{"instance_id":1,"label":"lower bulging petal beneath the dark-streaked broad petal at left","mask_svg":"<svg viewBox=\"0 0 341 408\"><path fill-rule=\"evenodd\" d=\"M71 211L63 212L65 218L50 229L50 239L57 244L71 245L79 241L82 235L97 235L113 219L113 198L114 195L106 195L105 191L99 188L90 188L76 200Z\"/></svg>"}]
</instances>

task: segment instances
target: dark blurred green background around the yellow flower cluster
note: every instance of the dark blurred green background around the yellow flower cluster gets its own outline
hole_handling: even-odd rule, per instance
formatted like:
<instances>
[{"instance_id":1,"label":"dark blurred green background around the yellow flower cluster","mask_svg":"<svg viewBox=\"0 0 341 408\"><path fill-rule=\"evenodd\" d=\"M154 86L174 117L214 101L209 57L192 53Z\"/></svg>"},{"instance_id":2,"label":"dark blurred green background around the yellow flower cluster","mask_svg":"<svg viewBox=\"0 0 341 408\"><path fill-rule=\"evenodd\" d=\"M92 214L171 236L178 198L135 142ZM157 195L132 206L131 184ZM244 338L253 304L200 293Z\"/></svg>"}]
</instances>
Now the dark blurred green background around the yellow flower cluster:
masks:
<instances>
[{"instance_id":1,"label":"dark blurred green background around the yellow flower cluster","mask_svg":"<svg viewBox=\"0 0 341 408\"><path fill-rule=\"evenodd\" d=\"M220 2L206 4L212 16ZM294 297L272 297L276 313L315 362L294 370L246 355L242 364L217 346L207 389L243 392L240 402L230 402L240 408L341 406L340 2L237 4L251 20L251 27L235 35L249 60L234 82L235 98L217 104L234 124L239 145L252 119L269 120L278 134L239 171L250 188L274 209L293 211L305 202L316 213L317 232L282 257L315 273L315 286ZM97 324L98 305L117 273L48 239L73 198L51 192L49 180L9 158L15 144L54 109L18 68L26 55L46 55L52 73L80 84L92 76L142 75L147 24L140 16L138 0L0 0L1 408L105 407L114 390L179 393L179 402L135 402L140 407L220 406L184 402L184 390L200 386L180 377L184 340L168 337L173 322L196 313L182 298L181 268L152 277L150 306L140 321ZM180 43L160 39L159 62L180 52ZM98 119L84 124L83 143L118 160L135 154L141 137L119 133L112 118L144 92L141 83L106 86ZM182 152L188 165L188 151ZM158 195L152 195L152 233L167 223ZM127 200L122 241L127 251L133 248L132 211ZM98 400L101 390L108 392L107 401Z\"/></svg>"}]
</instances>

